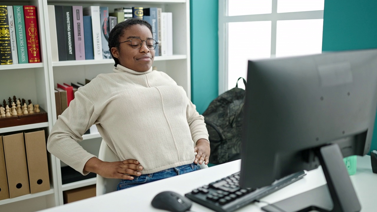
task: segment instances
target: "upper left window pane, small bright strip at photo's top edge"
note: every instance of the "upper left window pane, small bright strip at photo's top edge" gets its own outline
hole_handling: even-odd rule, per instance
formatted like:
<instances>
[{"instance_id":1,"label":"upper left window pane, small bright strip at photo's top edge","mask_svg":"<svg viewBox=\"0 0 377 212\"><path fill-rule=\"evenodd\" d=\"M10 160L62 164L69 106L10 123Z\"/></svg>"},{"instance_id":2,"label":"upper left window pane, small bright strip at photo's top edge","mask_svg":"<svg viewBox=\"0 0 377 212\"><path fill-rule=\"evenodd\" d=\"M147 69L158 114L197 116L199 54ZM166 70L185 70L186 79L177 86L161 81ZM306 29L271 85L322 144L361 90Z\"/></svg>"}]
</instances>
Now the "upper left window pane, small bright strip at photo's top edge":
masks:
<instances>
[{"instance_id":1,"label":"upper left window pane, small bright strip at photo's top edge","mask_svg":"<svg viewBox=\"0 0 377 212\"><path fill-rule=\"evenodd\" d=\"M228 15L269 14L272 11L272 0L228 0Z\"/></svg>"}]
</instances>

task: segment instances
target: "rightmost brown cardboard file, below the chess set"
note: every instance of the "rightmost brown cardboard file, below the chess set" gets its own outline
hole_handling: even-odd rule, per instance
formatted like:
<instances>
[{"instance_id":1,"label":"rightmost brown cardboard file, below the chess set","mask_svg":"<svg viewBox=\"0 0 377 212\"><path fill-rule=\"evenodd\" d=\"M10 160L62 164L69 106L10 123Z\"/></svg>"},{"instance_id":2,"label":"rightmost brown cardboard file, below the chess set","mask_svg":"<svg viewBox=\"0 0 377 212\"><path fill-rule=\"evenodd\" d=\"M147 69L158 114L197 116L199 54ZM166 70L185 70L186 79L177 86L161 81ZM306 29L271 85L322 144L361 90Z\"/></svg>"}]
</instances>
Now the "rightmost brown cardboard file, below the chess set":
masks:
<instances>
[{"instance_id":1,"label":"rightmost brown cardboard file, below the chess set","mask_svg":"<svg viewBox=\"0 0 377 212\"><path fill-rule=\"evenodd\" d=\"M26 161L28 161L30 193L50 190L44 130L24 132Z\"/></svg>"}]
</instances>

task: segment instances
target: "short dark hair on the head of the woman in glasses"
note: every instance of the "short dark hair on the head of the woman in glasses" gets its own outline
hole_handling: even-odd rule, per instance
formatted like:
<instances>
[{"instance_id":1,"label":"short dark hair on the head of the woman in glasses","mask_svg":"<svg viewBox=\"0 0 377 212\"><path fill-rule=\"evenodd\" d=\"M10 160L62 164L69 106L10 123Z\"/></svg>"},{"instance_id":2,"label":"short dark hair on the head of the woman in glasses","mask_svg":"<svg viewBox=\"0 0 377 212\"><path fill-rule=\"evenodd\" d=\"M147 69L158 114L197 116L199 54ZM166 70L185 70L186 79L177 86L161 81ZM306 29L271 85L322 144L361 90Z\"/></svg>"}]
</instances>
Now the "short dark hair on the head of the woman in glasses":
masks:
<instances>
[{"instance_id":1,"label":"short dark hair on the head of the woman in glasses","mask_svg":"<svg viewBox=\"0 0 377 212\"><path fill-rule=\"evenodd\" d=\"M115 65L114 65L115 67L116 65L120 63L119 63L118 58L114 57L113 53L111 52L111 48L115 47L119 49L119 38L124 34L124 32L127 29L137 24L141 26L146 26L150 30L150 33L152 33L152 26L146 20L142 20L139 18L127 19L124 22L120 22L117 25L115 25L115 27L111 30L110 35L109 35L109 49L110 49L111 56L113 57L115 61Z\"/></svg>"}]
</instances>

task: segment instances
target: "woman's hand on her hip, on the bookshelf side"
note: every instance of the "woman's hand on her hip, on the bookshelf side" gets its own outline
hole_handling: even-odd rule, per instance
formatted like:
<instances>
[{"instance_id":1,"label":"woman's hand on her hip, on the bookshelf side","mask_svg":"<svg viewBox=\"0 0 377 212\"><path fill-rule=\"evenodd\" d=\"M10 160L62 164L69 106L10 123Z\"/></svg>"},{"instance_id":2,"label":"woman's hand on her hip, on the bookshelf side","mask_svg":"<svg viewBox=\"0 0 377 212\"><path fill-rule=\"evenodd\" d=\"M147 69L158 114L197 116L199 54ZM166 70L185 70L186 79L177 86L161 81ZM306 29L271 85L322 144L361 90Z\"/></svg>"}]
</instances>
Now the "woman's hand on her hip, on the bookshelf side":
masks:
<instances>
[{"instance_id":1,"label":"woman's hand on her hip, on the bookshelf side","mask_svg":"<svg viewBox=\"0 0 377 212\"><path fill-rule=\"evenodd\" d=\"M95 172L104 178L133 180L131 175L140 176L143 166L140 166L139 161L133 159L106 162L93 157L86 162L84 170Z\"/></svg>"}]
</instances>

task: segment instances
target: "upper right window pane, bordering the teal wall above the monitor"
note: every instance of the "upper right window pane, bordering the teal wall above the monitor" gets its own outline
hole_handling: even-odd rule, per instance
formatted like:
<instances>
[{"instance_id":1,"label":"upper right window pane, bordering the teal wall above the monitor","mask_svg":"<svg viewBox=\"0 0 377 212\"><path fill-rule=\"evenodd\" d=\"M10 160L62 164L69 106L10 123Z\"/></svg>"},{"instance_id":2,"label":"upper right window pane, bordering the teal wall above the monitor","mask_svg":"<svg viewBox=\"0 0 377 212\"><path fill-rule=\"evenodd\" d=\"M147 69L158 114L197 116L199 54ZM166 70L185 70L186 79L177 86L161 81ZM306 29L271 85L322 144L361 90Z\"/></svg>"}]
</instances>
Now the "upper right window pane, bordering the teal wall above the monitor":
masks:
<instances>
[{"instance_id":1,"label":"upper right window pane, bordering the teal wall above the monitor","mask_svg":"<svg viewBox=\"0 0 377 212\"><path fill-rule=\"evenodd\" d=\"M277 12L323 10L325 0L277 0Z\"/></svg>"}]
</instances>

